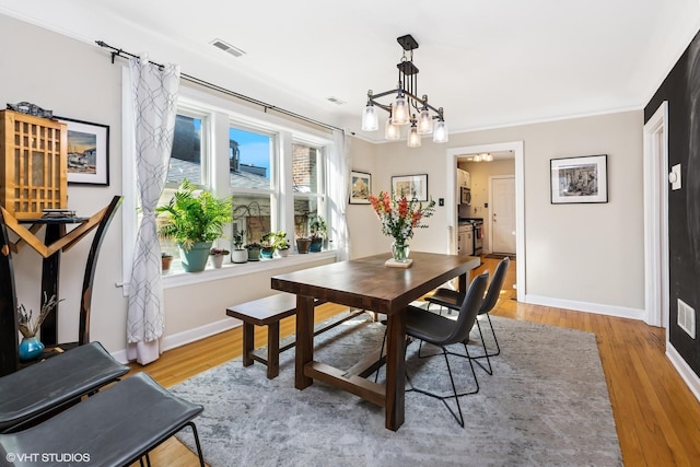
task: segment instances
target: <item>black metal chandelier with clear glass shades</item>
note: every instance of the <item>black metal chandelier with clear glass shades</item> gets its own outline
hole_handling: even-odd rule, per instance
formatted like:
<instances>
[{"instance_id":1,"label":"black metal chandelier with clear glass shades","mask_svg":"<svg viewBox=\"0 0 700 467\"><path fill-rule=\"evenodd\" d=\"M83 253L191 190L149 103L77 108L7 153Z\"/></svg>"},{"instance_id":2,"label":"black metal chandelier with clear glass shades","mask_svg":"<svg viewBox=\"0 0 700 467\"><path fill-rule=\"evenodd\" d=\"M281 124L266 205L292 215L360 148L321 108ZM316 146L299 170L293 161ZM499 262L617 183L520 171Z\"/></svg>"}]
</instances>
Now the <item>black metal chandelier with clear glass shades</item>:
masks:
<instances>
[{"instance_id":1,"label":"black metal chandelier with clear glass shades","mask_svg":"<svg viewBox=\"0 0 700 467\"><path fill-rule=\"evenodd\" d=\"M413 50L418 43L410 35L398 37L396 40L404 48L398 68L398 84L396 89L374 94L368 91L368 105L362 113L362 130L376 131L380 129L380 118L376 107L389 114L384 126L384 138L398 140L401 137L400 127L409 125L408 147L418 148L423 135L433 135L434 142L447 142L447 125L442 107L435 108L428 103L428 95L418 97L418 68L413 65ZM396 94L394 102L381 104L378 98ZM436 120L433 122L433 120Z\"/></svg>"}]
</instances>

